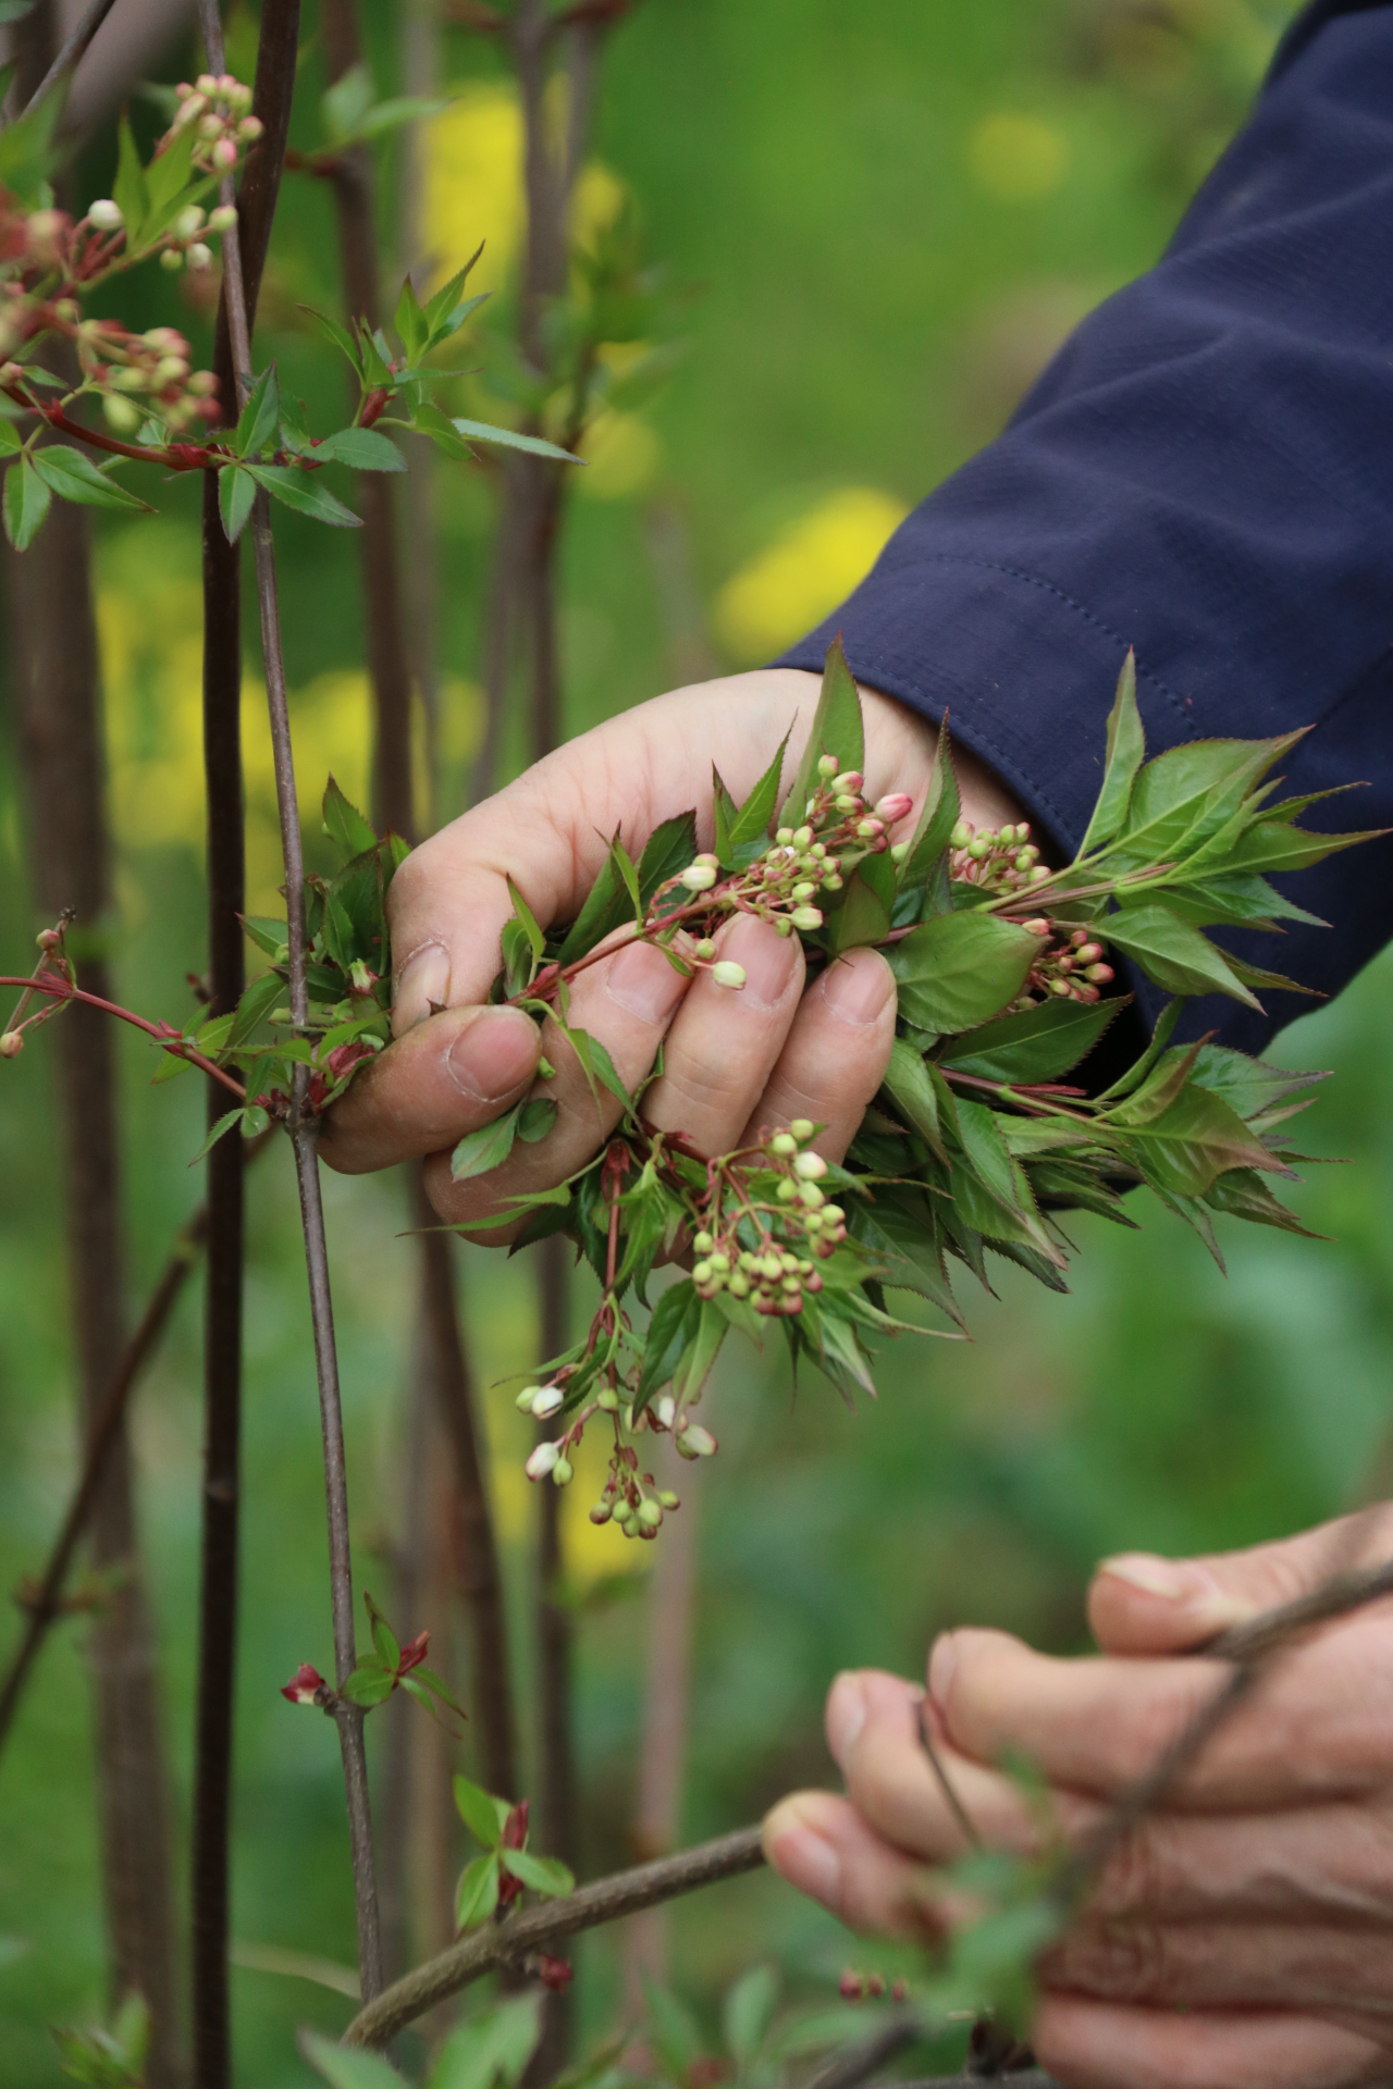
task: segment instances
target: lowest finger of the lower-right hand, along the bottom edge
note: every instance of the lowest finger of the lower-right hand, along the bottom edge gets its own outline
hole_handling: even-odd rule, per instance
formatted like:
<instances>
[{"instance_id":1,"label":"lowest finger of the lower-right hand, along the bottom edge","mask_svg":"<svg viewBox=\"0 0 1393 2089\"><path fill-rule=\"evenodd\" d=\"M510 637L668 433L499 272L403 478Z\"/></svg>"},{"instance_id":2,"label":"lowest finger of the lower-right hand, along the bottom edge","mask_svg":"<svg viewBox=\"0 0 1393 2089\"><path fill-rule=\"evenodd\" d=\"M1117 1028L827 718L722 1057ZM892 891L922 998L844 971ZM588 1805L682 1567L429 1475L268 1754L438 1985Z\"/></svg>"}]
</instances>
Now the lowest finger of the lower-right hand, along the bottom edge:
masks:
<instances>
[{"instance_id":1,"label":"lowest finger of the lower-right hand, along the bottom edge","mask_svg":"<svg viewBox=\"0 0 1393 2089\"><path fill-rule=\"evenodd\" d=\"M1069 2089L1345 2089L1389 2066L1374 2039L1286 2010L1176 2016L1046 1993L1030 2039Z\"/></svg>"}]
</instances>

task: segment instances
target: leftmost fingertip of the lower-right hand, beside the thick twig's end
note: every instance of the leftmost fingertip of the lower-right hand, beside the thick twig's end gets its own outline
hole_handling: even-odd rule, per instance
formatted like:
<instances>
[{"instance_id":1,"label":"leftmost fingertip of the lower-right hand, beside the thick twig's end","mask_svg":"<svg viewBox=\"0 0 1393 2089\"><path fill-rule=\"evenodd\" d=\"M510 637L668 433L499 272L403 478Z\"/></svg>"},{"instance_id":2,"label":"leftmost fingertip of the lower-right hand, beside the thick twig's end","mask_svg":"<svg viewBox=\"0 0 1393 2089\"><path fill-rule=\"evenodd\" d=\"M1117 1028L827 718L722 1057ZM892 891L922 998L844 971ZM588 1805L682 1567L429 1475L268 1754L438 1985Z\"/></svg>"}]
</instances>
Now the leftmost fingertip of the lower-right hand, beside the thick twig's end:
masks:
<instances>
[{"instance_id":1,"label":"leftmost fingertip of the lower-right hand, beside the thick twig's end","mask_svg":"<svg viewBox=\"0 0 1393 2089\"><path fill-rule=\"evenodd\" d=\"M764 1822L764 1855L789 1886L852 1930L940 1934L923 1865L881 1842L833 1792L794 1792Z\"/></svg>"}]
</instances>

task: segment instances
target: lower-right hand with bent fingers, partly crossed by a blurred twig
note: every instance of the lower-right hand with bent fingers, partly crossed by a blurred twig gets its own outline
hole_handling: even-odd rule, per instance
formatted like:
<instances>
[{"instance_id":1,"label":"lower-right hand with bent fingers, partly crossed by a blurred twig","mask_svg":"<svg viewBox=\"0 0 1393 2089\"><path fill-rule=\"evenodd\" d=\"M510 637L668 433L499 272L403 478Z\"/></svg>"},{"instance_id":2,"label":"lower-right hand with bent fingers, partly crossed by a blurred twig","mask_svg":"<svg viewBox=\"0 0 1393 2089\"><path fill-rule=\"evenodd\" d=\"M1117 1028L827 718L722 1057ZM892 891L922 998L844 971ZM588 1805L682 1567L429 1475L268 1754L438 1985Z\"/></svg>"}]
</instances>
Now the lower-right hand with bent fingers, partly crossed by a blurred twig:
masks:
<instances>
[{"instance_id":1,"label":"lower-right hand with bent fingers, partly crossed by a blurred twig","mask_svg":"<svg viewBox=\"0 0 1393 2089\"><path fill-rule=\"evenodd\" d=\"M1038 1845L1038 1815L990 1767L1013 1751L1080 1836L1224 1675L1167 1657L1387 1558L1389 1540L1380 1515L1203 1560L1105 1560L1088 1598L1105 1659L944 1634L927 1713L982 1838ZM840 1675L827 1740L848 1799L798 1792L764 1824L771 1863L858 1930L942 1937L954 1916L923 1870L965 1845L919 1744L919 1698L894 1675ZM1040 1978L1032 2045L1076 2089L1335 2089L1393 2072L1391 1602L1274 1659Z\"/></svg>"}]
</instances>

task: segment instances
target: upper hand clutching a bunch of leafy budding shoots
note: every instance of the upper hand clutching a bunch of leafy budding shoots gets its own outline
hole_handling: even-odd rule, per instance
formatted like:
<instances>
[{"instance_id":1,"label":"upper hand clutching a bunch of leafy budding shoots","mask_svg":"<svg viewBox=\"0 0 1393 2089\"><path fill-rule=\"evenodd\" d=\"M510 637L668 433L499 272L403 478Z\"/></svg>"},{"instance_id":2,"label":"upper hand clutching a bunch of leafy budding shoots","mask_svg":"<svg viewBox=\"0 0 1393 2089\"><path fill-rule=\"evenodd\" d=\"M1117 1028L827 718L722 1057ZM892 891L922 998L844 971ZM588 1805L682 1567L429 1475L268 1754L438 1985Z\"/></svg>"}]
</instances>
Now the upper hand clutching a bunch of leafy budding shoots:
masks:
<instances>
[{"instance_id":1,"label":"upper hand clutching a bunch of leafy budding shoots","mask_svg":"<svg viewBox=\"0 0 1393 2089\"><path fill-rule=\"evenodd\" d=\"M817 694L814 675L789 668L677 689L572 740L414 850L388 894L395 1042L330 1113L324 1159L361 1174L432 1155L426 1187L441 1218L455 1224L585 1166L614 1128L618 1103L610 1095L595 1103L553 1024L539 1030L518 1009L485 1007L512 913L507 873L551 925L576 915L616 827L637 854L660 821L698 806L700 846L710 846L712 762L739 800L792 727L792 777ZM921 804L938 733L871 691L865 717L869 794L894 785ZM967 819L1019 819L969 754L957 762ZM827 1126L819 1151L840 1159L890 1057L890 967L875 950L854 950L804 994L798 938L752 917L727 923L721 955L746 967L741 990L714 986L708 973L683 980L658 950L631 942L576 978L570 1024L608 1047L629 1088L662 1044L664 1070L645 1093L645 1116L685 1132L702 1153L737 1147L758 1124L812 1118ZM539 1082L543 1051L556 1076ZM487 1176L451 1182L455 1141L533 1088L560 1105L549 1136L518 1145ZM516 1230L480 1239L505 1245Z\"/></svg>"}]
</instances>

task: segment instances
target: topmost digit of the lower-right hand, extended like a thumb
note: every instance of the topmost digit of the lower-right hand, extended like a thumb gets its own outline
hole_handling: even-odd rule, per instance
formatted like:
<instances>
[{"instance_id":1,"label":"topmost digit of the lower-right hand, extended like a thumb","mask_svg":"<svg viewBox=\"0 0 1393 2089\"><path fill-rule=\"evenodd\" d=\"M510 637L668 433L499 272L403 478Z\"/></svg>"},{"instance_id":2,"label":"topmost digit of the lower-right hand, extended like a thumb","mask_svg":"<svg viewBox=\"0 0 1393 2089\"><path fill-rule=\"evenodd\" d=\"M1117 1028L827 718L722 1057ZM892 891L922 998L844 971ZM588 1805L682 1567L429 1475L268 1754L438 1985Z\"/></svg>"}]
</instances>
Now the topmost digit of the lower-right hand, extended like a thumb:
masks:
<instances>
[{"instance_id":1,"label":"topmost digit of the lower-right hand, extended like a thumb","mask_svg":"<svg viewBox=\"0 0 1393 2089\"><path fill-rule=\"evenodd\" d=\"M1385 1558L1393 1550L1391 1523L1387 1510L1366 1510L1299 1538L1190 1560L1119 1552L1096 1567L1088 1623L1109 1654L1184 1652L1309 1594L1332 1573Z\"/></svg>"}]
</instances>

